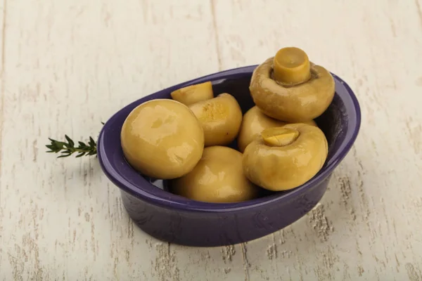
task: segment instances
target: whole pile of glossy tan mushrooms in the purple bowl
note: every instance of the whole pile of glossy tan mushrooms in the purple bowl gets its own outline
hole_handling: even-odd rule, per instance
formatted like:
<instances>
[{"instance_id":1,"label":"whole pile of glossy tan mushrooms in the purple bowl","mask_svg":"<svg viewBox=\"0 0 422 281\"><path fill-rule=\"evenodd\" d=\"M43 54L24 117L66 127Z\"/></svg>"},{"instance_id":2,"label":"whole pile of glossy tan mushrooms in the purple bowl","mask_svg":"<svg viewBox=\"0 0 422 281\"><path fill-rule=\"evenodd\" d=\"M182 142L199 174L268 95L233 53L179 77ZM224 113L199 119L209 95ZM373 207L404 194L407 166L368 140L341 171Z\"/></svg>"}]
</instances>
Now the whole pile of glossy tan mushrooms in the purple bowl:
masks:
<instances>
[{"instance_id":1,"label":"whole pile of glossy tan mushrooms in the purple bowl","mask_svg":"<svg viewBox=\"0 0 422 281\"><path fill-rule=\"evenodd\" d=\"M328 108L334 80L299 48L281 48L253 72L255 106L245 115L210 81L186 86L170 99L136 107L125 120L122 150L145 176L170 180L191 200L242 202L260 190L297 188L314 177L328 154L314 119ZM227 145L237 143L238 149Z\"/></svg>"}]
</instances>

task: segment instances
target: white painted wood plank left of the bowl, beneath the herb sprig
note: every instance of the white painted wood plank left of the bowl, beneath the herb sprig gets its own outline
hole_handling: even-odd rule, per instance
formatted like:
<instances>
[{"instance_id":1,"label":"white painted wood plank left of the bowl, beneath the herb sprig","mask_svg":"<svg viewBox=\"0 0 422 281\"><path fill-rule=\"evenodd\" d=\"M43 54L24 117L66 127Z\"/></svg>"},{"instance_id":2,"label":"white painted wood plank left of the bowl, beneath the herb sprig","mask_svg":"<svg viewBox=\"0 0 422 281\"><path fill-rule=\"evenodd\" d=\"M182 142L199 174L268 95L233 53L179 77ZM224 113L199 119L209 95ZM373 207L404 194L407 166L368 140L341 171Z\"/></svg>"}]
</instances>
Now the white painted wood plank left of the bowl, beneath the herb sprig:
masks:
<instances>
[{"instance_id":1,"label":"white painted wood plank left of the bowl, beneath the herb sprig","mask_svg":"<svg viewBox=\"0 0 422 281\"><path fill-rule=\"evenodd\" d=\"M44 145L217 71L209 3L7 1L0 280L167 280L178 259L129 221L96 158Z\"/></svg>"}]
</instances>

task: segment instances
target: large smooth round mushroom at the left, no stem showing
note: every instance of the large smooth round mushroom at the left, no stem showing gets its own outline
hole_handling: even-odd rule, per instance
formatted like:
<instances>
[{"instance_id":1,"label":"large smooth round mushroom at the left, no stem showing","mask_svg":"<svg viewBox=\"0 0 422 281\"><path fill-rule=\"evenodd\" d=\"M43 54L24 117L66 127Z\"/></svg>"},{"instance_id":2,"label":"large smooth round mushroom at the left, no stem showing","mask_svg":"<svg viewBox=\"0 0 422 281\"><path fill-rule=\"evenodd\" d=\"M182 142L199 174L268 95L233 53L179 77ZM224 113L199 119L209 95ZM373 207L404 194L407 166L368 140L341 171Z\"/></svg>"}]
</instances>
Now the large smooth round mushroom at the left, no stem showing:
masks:
<instances>
[{"instance_id":1,"label":"large smooth round mushroom at the left, no stem showing","mask_svg":"<svg viewBox=\"0 0 422 281\"><path fill-rule=\"evenodd\" d=\"M198 163L204 148L202 126L189 108L171 99L142 103L130 112L120 134L134 169L152 178L178 178Z\"/></svg>"}]
</instances>

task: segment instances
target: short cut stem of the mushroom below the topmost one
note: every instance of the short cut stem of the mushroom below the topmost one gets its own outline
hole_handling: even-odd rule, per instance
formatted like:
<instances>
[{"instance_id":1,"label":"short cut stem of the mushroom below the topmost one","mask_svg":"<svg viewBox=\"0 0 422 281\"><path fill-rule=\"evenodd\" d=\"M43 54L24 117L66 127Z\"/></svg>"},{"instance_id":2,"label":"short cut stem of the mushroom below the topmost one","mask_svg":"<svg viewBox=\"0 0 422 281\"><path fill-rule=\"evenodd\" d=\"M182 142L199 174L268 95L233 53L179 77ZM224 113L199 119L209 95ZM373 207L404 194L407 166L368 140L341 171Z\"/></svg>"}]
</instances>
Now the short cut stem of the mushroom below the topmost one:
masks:
<instances>
[{"instance_id":1,"label":"short cut stem of the mushroom below the topmost one","mask_svg":"<svg viewBox=\"0 0 422 281\"><path fill-rule=\"evenodd\" d=\"M281 147L292 144L298 139L299 134L299 131L295 129L275 127L264 129L261 137L265 145Z\"/></svg>"}]
</instances>

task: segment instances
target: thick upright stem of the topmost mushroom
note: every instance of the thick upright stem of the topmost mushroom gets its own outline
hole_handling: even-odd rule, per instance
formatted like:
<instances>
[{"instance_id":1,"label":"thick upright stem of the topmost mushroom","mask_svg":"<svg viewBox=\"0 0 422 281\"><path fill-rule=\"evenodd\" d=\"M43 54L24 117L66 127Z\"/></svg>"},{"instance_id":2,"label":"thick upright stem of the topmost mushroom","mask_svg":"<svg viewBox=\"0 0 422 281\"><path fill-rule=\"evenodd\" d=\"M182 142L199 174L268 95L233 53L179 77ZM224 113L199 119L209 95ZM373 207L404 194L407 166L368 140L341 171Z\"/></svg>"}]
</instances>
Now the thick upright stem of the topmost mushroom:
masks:
<instances>
[{"instance_id":1,"label":"thick upright stem of the topmost mushroom","mask_svg":"<svg viewBox=\"0 0 422 281\"><path fill-rule=\"evenodd\" d=\"M294 86L311 78L311 65L300 48L281 48L274 56L274 79L279 84Z\"/></svg>"}]
</instances>

